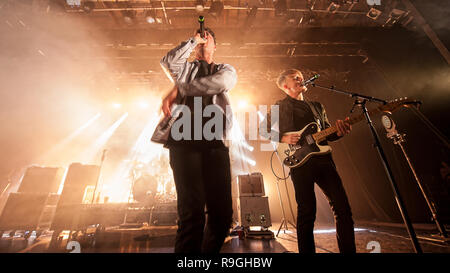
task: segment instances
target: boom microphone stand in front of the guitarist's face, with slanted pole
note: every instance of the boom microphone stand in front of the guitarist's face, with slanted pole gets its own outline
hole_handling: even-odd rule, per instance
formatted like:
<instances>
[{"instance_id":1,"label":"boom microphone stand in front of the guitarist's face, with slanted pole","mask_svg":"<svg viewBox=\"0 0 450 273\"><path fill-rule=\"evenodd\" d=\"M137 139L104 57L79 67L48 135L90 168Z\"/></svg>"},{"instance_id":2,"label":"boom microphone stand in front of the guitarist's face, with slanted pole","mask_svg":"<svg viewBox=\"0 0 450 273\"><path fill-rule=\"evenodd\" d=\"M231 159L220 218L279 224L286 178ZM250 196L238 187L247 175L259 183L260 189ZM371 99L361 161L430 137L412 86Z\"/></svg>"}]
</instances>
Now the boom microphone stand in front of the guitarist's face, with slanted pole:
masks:
<instances>
[{"instance_id":1,"label":"boom microphone stand in front of the guitarist's face, with slanted pole","mask_svg":"<svg viewBox=\"0 0 450 273\"><path fill-rule=\"evenodd\" d=\"M313 87L319 87L328 91L344 94L347 96L350 96L351 98L355 98L355 102L353 104L352 110L350 112L353 112L355 106L360 106L364 116L367 120L367 125L370 128L370 131L372 133L373 139L375 141L375 148L377 149L378 155L380 156L381 162L383 163L384 170L386 172L386 175L389 179L389 182L391 184L392 190L394 192L395 201L397 202L398 209L400 210L400 214L402 215L403 222L405 223L406 230L408 231L409 237L411 239L411 243L413 245L414 251L416 253L422 253L422 248L420 247L419 241L417 240L416 233L414 231L414 227L411 223L411 220L408 216L408 213L406 211L405 205L403 203L403 199L400 195L400 191L398 190L397 183L394 180L394 176L392 174L391 167L389 166L389 163L386 158L386 154L383 151L383 148L381 147L380 138L378 137L377 131L375 130L375 127L373 126L372 120L370 119L369 113L367 111L366 102L378 102L382 104L386 104L387 102L382 99L374 98L371 96L366 96L354 92L348 92L344 90L336 89L334 86L326 87L317 85L316 83L312 82L311 85Z\"/></svg>"}]
</instances>

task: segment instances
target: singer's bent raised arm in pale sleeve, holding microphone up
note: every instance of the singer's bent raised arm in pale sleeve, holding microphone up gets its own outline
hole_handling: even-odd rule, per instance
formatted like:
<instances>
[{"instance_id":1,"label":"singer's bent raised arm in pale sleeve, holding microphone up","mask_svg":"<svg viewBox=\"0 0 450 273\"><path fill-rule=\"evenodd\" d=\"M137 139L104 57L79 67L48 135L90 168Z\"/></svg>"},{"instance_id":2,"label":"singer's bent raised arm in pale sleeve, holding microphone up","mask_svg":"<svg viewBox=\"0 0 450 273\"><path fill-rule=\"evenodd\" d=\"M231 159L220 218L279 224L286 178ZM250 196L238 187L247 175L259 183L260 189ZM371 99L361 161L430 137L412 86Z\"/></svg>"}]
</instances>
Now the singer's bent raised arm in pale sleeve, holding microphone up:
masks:
<instances>
[{"instance_id":1,"label":"singer's bent raised arm in pale sleeve, holding microphone up","mask_svg":"<svg viewBox=\"0 0 450 273\"><path fill-rule=\"evenodd\" d=\"M177 82L181 78L187 64L187 59L196 46L197 41L192 37L170 50L167 55L161 59L160 64L163 70L174 82Z\"/></svg>"}]
</instances>

